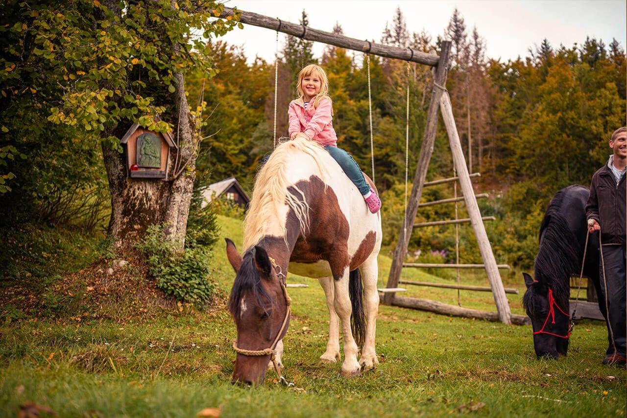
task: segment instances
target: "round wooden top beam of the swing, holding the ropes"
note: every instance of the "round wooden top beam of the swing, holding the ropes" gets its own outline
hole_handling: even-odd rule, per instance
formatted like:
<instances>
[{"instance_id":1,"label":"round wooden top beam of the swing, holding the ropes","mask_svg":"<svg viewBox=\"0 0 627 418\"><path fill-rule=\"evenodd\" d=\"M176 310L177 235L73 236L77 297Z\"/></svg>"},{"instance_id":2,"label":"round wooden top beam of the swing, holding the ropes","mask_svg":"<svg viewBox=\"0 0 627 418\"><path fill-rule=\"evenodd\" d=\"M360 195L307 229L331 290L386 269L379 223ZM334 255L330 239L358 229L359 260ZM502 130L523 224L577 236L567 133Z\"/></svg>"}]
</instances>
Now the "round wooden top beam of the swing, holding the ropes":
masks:
<instances>
[{"instance_id":1,"label":"round wooden top beam of the swing, holding the ropes","mask_svg":"<svg viewBox=\"0 0 627 418\"><path fill-rule=\"evenodd\" d=\"M410 48L398 48L398 46L388 46L382 45L380 43L349 38L348 36L338 35L337 33L330 33L320 31L318 29L308 28L307 26L303 26L302 24L291 23L276 18L270 18L268 16L263 16L263 14L251 13L243 10L235 11L232 8L224 8L224 11L220 14L219 17L227 18L228 16L233 16L233 13L237 13L240 16L241 23L251 24L253 26L259 26L260 28L272 29L273 31L287 33L288 35L297 36L298 38L307 41L322 42L328 45L346 48L347 50L385 56L386 58L396 58L398 60L417 62L425 65L430 65L431 67L435 67L436 65L438 65L438 62L440 62L440 56L438 55L428 54L423 51L411 50Z\"/></svg>"}]
</instances>

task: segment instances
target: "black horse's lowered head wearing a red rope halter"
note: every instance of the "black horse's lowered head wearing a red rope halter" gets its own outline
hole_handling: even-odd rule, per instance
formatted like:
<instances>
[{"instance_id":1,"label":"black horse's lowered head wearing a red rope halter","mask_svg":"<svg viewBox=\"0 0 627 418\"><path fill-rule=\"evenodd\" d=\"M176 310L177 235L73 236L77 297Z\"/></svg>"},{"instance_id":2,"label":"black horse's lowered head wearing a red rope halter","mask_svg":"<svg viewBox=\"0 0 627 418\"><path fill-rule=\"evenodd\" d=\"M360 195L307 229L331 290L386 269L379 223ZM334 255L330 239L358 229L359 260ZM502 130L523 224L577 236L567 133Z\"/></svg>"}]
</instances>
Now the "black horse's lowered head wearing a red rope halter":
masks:
<instances>
[{"instance_id":1,"label":"black horse's lowered head wearing a red rope halter","mask_svg":"<svg viewBox=\"0 0 627 418\"><path fill-rule=\"evenodd\" d=\"M535 355L554 359L565 356L569 341L569 307L557 304L547 284L534 281L527 273L522 275L527 286L523 304L534 328Z\"/></svg>"}]
</instances>

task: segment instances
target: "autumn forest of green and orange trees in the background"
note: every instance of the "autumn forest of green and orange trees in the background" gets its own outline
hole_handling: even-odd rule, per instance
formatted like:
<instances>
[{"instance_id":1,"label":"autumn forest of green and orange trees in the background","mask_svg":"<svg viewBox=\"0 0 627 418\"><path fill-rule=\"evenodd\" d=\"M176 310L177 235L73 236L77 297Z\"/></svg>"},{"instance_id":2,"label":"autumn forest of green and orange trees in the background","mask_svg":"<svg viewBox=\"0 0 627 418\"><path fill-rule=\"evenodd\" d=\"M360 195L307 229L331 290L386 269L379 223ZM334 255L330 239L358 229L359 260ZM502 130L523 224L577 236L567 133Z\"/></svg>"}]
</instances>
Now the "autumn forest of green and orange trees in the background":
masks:
<instances>
[{"instance_id":1,"label":"autumn forest of green and orange trees in the background","mask_svg":"<svg viewBox=\"0 0 627 418\"><path fill-rule=\"evenodd\" d=\"M41 19L34 12L28 13L34 23ZM219 20L213 22L209 41L195 44L197 49L204 48L203 58L199 54L194 58L196 64L202 65L176 63L179 68L184 67L189 109L192 114L194 110L204 112L194 190L198 192L211 183L234 176L251 191L256 170L272 148L275 63L258 57L251 59L240 46L224 43L218 35L231 29L233 22L229 27L219 26L216 23ZM300 23L316 26L308 21L305 10ZM27 26L21 23L1 30L19 37L22 31L31 30L32 26L28 29ZM339 23L333 31L342 33ZM482 215L497 217L487 225L497 259L529 268L537 250L539 223L551 196L567 185L589 185L591 175L608 158L611 132L624 125L623 46L615 39L606 43L588 37L575 45L552 45L544 39L539 40L539 45L530 46L527 56L503 62L486 56L485 40L479 30L468 27L457 10L442 33L429 34L408 29L403 11L397 9L394 16L389 16L381 37L373 41L435 53L443 39L452 41L446 87L466 162L470 172L481 173L480 178L473 180L476 190L490 193L490 198L480 201ZM145 56L139 56L133 63L135 67L144 67L129 68L128 73L120 76L120 79L130 78L125 85L127 90L139 93L136 97L121 95L134 107L120 107L103 115L95 101L107 97L108 90L90 88L89 83L80 81L88 71L79 69L84 63L76 60L73 64L76 68L72 70L67 68L69 63L55 62L55 48L52 39L43 41L41 47L31 48L34 58L45 62L39 67L16 68L10 62L10 55L19 55L17 47L9 48L4 57L0 75L3 104L0 106L3 132L0 222L3 228L19 228L24 223L35 222L105 231L107 223L112 223L109 187L112 179L107 179L103 155L106 157L108 150L117 146L109 118L130 120L139 114L176 114L176 110L156 105L163 91L156 91L145 80L157 71L151 69ZM71 53L78 57L80 50ZM124 65L119 62L124 56L111 58L111 63L119 65L122 71ZM100 57L94 58L97 59ZM287 36L278 54L277 136L287 135L287 105L295 97L298 70L307 63L320 63L329 74L339 144L371 174L365 62L366 57L361 53L331 46L325 48L322 56L314 56L312 43ZM162 67L163 63L154 65ZM391 248L403 218L406 89L409 88L411 181L423 137L432 77L430 68L415 63L371 56L369 65L376 181L384 202L384 245ZM161 74L162 70L158 71ZM93 80L96 79L92 77ZM171 72L160 80L165 80L166 94L174 91L172 85L176 80ZM109 89L115 90L115 94L116 82L113 78L110 84L114 87ZM68 87L71 85L78 87L75 92ZM113 97L114 93L110 94ZM196 109L194 104L198 104ZM438 129L428 180L449 177L452 173L441 122ZM450 197L452 193L450 186L428 188L423 200ZM453 208L448 206L429 206L419 211L418 218L427 221L451 218ZM463 205L460 209L463 212ZM416 230L410 242L412 254L418 254L419 250L425 257L441 257L446 262L446 256L455 248L451 231L446 225ZM477 261L479 255L472 230L461 228L460 233L461 260Z\"/></svg>"}]
</instances>

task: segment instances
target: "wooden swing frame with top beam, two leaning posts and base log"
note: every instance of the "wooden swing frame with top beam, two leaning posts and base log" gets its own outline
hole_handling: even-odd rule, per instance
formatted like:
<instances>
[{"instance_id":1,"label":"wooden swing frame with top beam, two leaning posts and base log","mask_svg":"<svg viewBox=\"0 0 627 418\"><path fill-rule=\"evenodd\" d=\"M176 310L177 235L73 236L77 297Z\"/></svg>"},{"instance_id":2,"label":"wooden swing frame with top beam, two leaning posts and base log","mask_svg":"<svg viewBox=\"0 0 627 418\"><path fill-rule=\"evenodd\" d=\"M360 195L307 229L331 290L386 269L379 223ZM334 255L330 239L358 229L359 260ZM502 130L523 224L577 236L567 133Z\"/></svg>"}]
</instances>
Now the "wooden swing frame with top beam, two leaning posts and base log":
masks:
<instances>
[{"instance_id":1,"label":"wooden swing frame with top beam, two leaning posts and base log","mask_svg":"<svg viewBox=\"0 0 627 418\"><path fill-rule=\"evenodd\" d=\"M477 205L477 197L475 196L472 184L470 183L470 174L468 173L468 168L466 168L466 161L461 150L460 137L455 126L451 102L448 92L445 91L446 70L449 62L451 42L443 41L440 56L437 56L421 51L414 51L411 48L397 48L395 46L381 45L370 41L360 41L347 36L311 29L300 24L270 18L268 16L263 16L262 14L240 10L235 11L231 8L224 8L223 13L221 13L219 17L227 18L228 16L233 16L234 13L238 14L241 23L260 26L261 28L273 29L277 32L287 33L288 35L297 36L298 38L308 41L322 42L328 45L339 46L340 48L360 51L372 55L386 56L387 58L396 58L409 62L422 63L436 68L433 92L431 93L431 102L429 103L429 112L427 114L427 125L424 131L420 155L418 157L418 166L416 168L416 173L414 174L411 196L406 210L405 225L401 226L398 244L396 245L396 250L394 250L394 259L390 269L389 278L387 279L387 289L389 291L383 292L383 303L406 306L408 308L427 309L458 316L469 316L473 318L485 318L492 320L497 319L497 314L495 313L478 311L476 309L459 308L458 306L448 305L438 301L395 296L396 291L398 291L397 286L399 278L401 277L401 269L403 268L403 259L407 252L409 236L411 235L411 233L404 234L403 232L411 232L414 219L416 218L416 213L418 212L418 205L426 180L427 168L429 166L429 161L431 160L431 154L433 154L433 144L435 143L436 131L438 127L438 112L441 110L442 118L446 126L446 132L448 133L451 152L453 153L453 164L455 165L458 181L460 182L461 191L466 203L466 210L470 217L470 223L475 230L475 236L477 237L479 249L483 258L483 264L485 265L494 301L497 306L498 320L505 324L511 324L512 319L514 319L514 323L523 323L525 321L524 317L520 315L512 316L510 313L507 297L505 296L505 289L503 289L503 283L498 272L497 262L494 258L487 233L485 232L481 213L479 212L479 207Z\"/></svg>"}]
</instances>

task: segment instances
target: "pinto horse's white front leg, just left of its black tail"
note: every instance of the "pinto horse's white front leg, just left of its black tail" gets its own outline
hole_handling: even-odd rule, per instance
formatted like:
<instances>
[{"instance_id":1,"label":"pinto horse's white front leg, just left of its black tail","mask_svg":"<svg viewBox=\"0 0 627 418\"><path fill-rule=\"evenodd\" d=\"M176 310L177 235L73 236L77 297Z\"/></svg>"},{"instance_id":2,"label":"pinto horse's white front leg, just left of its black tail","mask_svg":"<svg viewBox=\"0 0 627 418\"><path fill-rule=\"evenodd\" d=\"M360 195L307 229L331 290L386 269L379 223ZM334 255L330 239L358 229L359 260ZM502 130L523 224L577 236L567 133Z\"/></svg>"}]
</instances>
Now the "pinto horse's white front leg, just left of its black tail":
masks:
<instances>
[{"instance_id":1,"label":"pinto horse's white front leg, just left of its black tail","mask_svg":"<svg viewBox=\"0 0 627 418\"><path fill-rule=\"evenodd\" d=\"M356 375L360 371L357 362L357 344L350 330L350 306L349 296L349 266L344 269L344 273L339 280L334 280L334 306L335 312L342 321L342 335L344 335L344 363L342 363L342 374L345 376Z\"/></svg>"}]
</instances>

